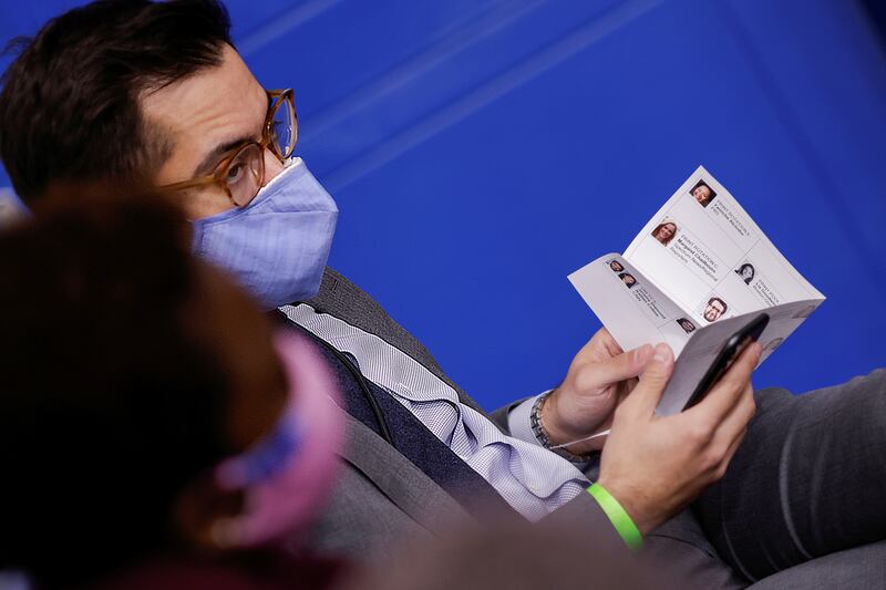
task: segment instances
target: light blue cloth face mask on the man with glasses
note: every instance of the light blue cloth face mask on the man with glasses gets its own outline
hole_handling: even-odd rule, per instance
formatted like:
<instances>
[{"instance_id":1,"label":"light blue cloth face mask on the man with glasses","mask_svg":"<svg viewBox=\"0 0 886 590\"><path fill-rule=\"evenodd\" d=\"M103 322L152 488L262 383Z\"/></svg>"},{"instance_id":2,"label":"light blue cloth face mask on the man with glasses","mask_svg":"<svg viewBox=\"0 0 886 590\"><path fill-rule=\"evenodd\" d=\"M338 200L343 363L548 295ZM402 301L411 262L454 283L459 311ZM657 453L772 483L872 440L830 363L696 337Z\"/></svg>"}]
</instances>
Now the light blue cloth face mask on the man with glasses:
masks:
<instances>
[{"instance_id":1,"label":"light blue cloth face mask on the man with glasses","mask_svg":"<svg viewBox=\"0 0 886 590\"><path fill-rule=\"evenodd\" d=\"M317 294L338 213L293 158L248 206L194 221L192 248L272 309Z\"/></svg>"}]
</instances>

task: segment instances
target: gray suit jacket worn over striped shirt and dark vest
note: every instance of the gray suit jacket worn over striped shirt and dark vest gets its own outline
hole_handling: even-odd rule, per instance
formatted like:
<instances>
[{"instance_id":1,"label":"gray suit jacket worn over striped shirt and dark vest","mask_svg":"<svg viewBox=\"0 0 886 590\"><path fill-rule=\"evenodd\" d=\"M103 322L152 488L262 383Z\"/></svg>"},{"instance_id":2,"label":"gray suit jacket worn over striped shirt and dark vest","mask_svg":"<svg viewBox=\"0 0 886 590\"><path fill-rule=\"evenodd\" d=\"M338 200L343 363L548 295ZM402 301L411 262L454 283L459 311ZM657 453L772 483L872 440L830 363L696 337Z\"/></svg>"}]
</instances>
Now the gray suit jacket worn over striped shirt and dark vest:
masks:
<instances>
[{"instance_id":1,"label":"gray suit jacket worn over striped shirt and dark vest","mask_svg":"<svg viewBox=\"0 0 886 590\"><path fill-rule=\"evenodd\" d=\"M463 404L483 413L415 338L334 270L327 268L320 292L308 303L318 312L336 315L384 339L452 385ZM506 432L505 412L498 412L495 418ZM372 429L347 414L346 421L343 468L324 513L310 532L312 548L360 559L390 557L390 551L406 539L445 536L453 529L463 531L464 527L484 525ZM549 517L560 518L584 522L589 546L625 550L620 537L589 495L579 495Z\"/></svg>"}]
</instances>

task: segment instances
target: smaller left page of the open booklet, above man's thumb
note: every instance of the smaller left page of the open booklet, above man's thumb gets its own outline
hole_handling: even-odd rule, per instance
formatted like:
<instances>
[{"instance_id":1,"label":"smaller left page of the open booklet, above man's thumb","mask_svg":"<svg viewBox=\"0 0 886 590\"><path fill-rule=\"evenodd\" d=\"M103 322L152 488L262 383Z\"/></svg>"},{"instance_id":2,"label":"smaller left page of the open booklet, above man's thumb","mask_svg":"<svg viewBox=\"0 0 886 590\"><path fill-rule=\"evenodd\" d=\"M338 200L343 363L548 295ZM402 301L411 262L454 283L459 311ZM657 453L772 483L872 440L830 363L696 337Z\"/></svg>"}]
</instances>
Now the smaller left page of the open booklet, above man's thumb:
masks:
<instances>
[{"instance_id":1,"label":"smaller left page of the open booklet, above man's thumb","mask_svg":"<svg viewBox=\"0 0 886 590\"><path fill-rule=\"evenodd\" d=\"M680 354L698 328L646 276L617 253L569 275L569 281L622 350L667 342Z\"/></svg>"}]
</instances>

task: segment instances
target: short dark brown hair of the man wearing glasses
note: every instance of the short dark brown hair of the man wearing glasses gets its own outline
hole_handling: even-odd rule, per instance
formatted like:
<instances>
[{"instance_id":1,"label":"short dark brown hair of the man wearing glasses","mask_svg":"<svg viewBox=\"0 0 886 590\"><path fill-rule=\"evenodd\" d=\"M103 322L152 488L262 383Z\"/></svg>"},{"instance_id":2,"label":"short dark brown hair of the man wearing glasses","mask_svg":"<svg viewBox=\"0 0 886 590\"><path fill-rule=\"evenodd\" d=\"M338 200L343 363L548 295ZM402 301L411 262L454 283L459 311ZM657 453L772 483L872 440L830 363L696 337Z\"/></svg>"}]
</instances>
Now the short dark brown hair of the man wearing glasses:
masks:
<instances>
[{"instance_id":1,"label":"short dark brown hair of the man wearing glasses","mask_svg":"<svg viewBox=\"0 0 886 590\"><path fill-rule=\"evenodd\" d=\"M142 180L169 156L138 97L218 65L230 19L218 0L99 0L49 21L0 92L0 159L22 199L56 180Z\"/></svg>"}]
</instances>

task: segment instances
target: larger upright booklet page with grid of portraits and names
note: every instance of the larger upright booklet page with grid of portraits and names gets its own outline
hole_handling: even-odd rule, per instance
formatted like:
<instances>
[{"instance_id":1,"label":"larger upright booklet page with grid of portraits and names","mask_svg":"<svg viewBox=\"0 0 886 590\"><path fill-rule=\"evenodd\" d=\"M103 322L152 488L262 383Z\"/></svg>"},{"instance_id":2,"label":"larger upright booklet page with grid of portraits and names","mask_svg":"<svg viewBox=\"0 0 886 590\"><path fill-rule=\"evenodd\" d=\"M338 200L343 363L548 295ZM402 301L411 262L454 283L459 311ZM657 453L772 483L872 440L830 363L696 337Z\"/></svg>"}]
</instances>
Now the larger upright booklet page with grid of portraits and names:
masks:
<instances>
[{"instance_id":1,"label":"larger upright booklet page with grid of portraits and names","mask_svg":"<svg viewBox=\"0 0 886 590\"><path fill-rule=\"evenodd\" d=\"M824 300L701 166L643 227L625 259L699 327Z\"/></svg>"}]
</instances>

